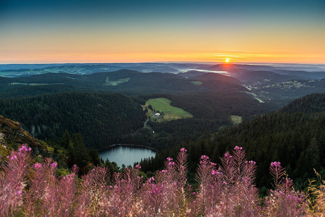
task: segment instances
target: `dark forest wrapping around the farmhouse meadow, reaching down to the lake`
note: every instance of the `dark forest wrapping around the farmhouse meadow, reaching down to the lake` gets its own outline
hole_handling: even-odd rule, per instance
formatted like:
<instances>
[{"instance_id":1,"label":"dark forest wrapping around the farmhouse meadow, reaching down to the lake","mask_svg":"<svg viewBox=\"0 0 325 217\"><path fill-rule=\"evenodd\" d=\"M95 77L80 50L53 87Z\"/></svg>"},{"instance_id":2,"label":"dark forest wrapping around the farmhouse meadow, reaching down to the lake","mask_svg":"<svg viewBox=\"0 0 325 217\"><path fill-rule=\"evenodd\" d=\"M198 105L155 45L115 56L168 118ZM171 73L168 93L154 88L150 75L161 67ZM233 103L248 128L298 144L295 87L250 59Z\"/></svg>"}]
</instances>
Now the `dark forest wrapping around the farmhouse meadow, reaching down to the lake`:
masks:
<instances>
[{"instance_id":1,"label":"dark forest wrapping around the farmhouse meadow, reaching down to the lake","mask_svg":"<svg viewBox=\"0 0 325 217\"><path fill-rule=\"evenodd\" d=\"M210 91L183 93L178 95L152 94L140 96L144 103L151 98L170 99L171 105L184 109L194 115L193 118L181 118L171 121L148 121L153 130L141 129L123 137L123 144L137 144L158 150L173 148L181 142L196 140L202 135L219 131L221 127L233 124L230 115L240 115L249 120L255 114L263 114L276 109L273 103L260 103L247 93L240 91Z\"/></svg>"}]
</instances>

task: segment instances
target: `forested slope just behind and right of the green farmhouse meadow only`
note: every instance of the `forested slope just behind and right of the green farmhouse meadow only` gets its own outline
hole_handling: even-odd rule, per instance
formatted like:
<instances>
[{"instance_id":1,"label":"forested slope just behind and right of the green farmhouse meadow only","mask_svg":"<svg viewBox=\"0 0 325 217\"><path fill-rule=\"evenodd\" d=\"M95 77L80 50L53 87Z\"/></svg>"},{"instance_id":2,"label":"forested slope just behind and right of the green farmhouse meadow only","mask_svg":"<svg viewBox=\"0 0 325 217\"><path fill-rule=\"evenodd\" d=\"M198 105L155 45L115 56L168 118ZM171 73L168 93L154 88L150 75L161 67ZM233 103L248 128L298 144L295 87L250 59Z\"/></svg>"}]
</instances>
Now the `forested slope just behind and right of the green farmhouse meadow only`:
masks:
<instances>
[{"instance_id":1,"label":"forested slope just behind and right of the green farmhouse meadow only","mask_svg":"<svg viewBox=\"0 0 325 217\"><path fill-rule=\"evenodd\" d=\"M159 97L170 99L171 105L190 112L196 118L218 120L223 123L227 122L229 115L248 117L277 109L274 103L260 103L249 94L240 91L190 92L181 95L152 94L139 98L147 101Z\"/></svg>"}]
</instances>

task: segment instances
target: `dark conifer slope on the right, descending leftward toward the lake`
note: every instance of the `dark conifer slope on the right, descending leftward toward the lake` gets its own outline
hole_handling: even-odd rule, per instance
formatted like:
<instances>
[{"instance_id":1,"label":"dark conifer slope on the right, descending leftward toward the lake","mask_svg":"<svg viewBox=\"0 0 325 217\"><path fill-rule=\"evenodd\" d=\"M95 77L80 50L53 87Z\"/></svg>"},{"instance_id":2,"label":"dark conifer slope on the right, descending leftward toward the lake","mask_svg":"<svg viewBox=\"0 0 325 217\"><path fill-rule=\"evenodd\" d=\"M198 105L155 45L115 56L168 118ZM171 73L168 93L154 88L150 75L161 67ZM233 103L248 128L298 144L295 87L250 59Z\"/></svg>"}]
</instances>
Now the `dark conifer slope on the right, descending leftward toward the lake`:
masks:
<instances>
[{"instance_id":1,"label":"dark conifer slope on the right, descending leftward toward the lake","mask_svg":"<svg viewBox=\"0 0 325 217\"><path fill-rule=\"evenodd\" d=\"M226 151L232 152L232 148L238 145L247 150L248 159L256 162L257 186L271 187L267 184L271 180L267 173L267 162L280 161L287 168L286 172L296 188L304 189L308 178L315 177L313 168L325 175L324 96L325 93L307 95L279 111L260 115L236 127L222 129L195 142L181 144L188 150L190 171L195 171L198 156L207 155L213 162L220 163L219 157ZM301 110L296 106L298 104ZM143 170L161 169L165 157L175 157L180 146L164 151L152 160L143 160Z\"/></svg>"}]
</instances>

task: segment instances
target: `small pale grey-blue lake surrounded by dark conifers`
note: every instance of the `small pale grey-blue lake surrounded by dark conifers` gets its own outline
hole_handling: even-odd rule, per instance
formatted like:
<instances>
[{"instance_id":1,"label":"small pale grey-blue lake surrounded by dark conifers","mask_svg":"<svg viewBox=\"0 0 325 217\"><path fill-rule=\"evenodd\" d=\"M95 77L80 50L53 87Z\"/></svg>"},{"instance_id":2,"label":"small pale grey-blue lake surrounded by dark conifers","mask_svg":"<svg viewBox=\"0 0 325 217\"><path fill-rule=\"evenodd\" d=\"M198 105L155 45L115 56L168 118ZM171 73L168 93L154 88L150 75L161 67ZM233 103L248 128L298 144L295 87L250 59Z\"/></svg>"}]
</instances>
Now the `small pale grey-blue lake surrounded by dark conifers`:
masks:
<instances>
[{"instance_id":1,"label":"small pale grey-blue lake surrounded by dark conifers","mask_svg":"<svg viewBox=\"0 0 325 217\"><path fill-rule=\"evenodd\" d=\"M152 157L156 154L152 149L127 145L115 145L110 148L102 149L98 151L98 153L104 161L108 158L110 162L115 161L119 167L121 167L122 164L125 164L125 166L131 165L133 167L133 163L140 162L141 158Z\"/></svg>"}]
</instances>

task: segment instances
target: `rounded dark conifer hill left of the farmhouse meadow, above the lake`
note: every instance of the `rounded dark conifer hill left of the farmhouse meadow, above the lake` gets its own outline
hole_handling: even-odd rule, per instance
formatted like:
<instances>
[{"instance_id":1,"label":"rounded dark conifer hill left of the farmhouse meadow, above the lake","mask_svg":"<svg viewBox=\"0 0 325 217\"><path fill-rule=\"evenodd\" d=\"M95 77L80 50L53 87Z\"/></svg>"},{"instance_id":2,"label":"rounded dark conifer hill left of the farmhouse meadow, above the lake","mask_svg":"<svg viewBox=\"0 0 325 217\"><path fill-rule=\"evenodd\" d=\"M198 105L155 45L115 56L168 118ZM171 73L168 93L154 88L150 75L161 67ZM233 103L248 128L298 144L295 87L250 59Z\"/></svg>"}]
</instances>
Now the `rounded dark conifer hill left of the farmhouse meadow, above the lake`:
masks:
<instances>
[{"instance_id":1,"label":"rounded dark conifer hill left of the farmhouse meadow, above the lake","mask_svg":"<svg viewBox=\"0 0 325 217\"><path fill-rule=\"evenodd\" d=\"M66 92L0 99L0 114L20 122L33 136L59 139L67 129L88 147L116 143L143 127L141 106L122 94Z\"/></svg>"}]
</instances>

